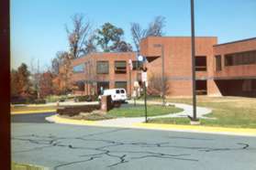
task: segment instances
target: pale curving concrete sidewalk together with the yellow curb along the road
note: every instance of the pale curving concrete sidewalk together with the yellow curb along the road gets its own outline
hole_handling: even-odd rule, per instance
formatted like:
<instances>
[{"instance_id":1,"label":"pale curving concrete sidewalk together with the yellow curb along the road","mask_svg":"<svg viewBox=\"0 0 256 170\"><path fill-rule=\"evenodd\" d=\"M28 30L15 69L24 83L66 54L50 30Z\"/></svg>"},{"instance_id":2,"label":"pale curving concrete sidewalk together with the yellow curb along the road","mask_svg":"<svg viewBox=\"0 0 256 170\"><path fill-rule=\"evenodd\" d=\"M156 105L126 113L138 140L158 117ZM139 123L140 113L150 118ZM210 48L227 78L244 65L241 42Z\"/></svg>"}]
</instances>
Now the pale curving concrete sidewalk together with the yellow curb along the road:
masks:
<instances>
[{"instance_id":1,"label":"pale curving concrete sidewalk together with the yellow curb along the road","mask_svg":"<svg viewBox=\"0 0 256 170\"><path fill-rule=\"evenodd\" d=\"M137 101L142 103L142 101ZM161 104L159 101L149 101L149 104ZM184 109L183 112L172 113L161 116L149 117L153 118L166 118L166 117L187 117L192 116L193 108L188 104L181 103L167 103L173 104L175 107ZM212 112L210 109L197 107L198 118L204 119L205 115ZM76 124L76 125L91 125L100 127L119 127L119 128L139 128L139 129L151 129L161 131L177 131L177 132L189 132L189 133L217 133L217 134L230 134L230 135L245 135L256 136L256 129L241 129L241 128L224 128L224 127L209 127L202 125L176 125L176 124L159 124L159 123L145 123L144 117L137 118L117 118L104 121L80 121L67 118L61 118L58 115L53 115L46 118L49 122L62 123L62 124Z\"/></svg>"}]
</instances>

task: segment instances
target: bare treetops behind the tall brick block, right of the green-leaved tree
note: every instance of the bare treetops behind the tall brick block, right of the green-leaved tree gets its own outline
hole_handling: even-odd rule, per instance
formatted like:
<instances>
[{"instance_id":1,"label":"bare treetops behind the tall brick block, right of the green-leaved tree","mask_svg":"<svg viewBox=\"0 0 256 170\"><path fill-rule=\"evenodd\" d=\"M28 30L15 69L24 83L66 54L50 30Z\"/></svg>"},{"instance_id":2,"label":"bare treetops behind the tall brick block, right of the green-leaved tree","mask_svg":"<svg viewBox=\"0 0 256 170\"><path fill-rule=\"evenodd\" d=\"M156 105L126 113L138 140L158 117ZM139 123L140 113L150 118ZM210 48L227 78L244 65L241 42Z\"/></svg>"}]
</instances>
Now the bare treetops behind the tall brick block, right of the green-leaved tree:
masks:
<instances>
[{"instance_id":1,"label":"bare treetops behind the tall brick block, right of the green-leaved tree","mask_svg":"<svg viewBox=\"0 0 256 170\"><path fill-rule=\"evenodd\" d=\"M165 17L156 16L147 29L140 27L139 23L131 23L130 31L133 43L139 51L140 40L144 37L161 37L163 35L162 29L165 27Z\"/></svg>"}]
</instances>

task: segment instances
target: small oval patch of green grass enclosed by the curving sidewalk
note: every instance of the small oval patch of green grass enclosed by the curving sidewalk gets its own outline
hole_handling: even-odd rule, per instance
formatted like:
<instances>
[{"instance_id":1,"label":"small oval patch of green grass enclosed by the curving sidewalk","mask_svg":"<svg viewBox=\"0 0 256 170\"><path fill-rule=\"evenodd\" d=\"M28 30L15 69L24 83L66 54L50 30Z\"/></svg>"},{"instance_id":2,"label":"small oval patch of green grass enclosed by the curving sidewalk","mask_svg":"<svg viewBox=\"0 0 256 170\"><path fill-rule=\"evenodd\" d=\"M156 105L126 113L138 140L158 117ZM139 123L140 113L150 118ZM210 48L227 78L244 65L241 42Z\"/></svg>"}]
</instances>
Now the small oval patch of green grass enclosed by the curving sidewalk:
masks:
<instances>
[{"instance_id":1,"label":"small oval patch of green grass enclosed by the curving sidewalk","mask_svg":"<svg viewBox=\"0 0 256 170\"><path fill-rule=\"evenodd\" d=\"M148 116L158 116L174 112L182 112L182 109L173 106L148 105ZM142 117L145 116L144 105L123 104L120 108L115 108L107 114L114 117Z\"/></svg>"}]
</instances>

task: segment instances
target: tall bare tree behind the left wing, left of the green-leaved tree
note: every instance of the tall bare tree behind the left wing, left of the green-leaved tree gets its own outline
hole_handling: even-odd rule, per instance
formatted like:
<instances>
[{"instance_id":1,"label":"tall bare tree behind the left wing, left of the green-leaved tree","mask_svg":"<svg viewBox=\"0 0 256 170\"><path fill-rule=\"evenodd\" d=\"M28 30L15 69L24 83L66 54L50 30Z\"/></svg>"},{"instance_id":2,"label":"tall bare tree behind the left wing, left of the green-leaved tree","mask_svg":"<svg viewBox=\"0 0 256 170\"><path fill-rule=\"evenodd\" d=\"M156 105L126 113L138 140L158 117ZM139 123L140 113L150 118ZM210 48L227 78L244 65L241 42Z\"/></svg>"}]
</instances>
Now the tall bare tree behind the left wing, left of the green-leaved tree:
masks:
<instances>
[{"instance_id":1,"label":"tall bare tree behind the left wing, left of the green-leaved tree","mask_svg":"<svg viewBox=\"0 0 256 170\"><path fill-rule=\"evenodd\" d=\"M76 14L72 16L72 27L71 30L66 26L70 44L70 53L72 58L79 58L86 52L86 45L88 44L86 41L89 41L87 38L91 35L92 26L89 21L84 21L83 15Z\"/></svg>"}]
</instances>

